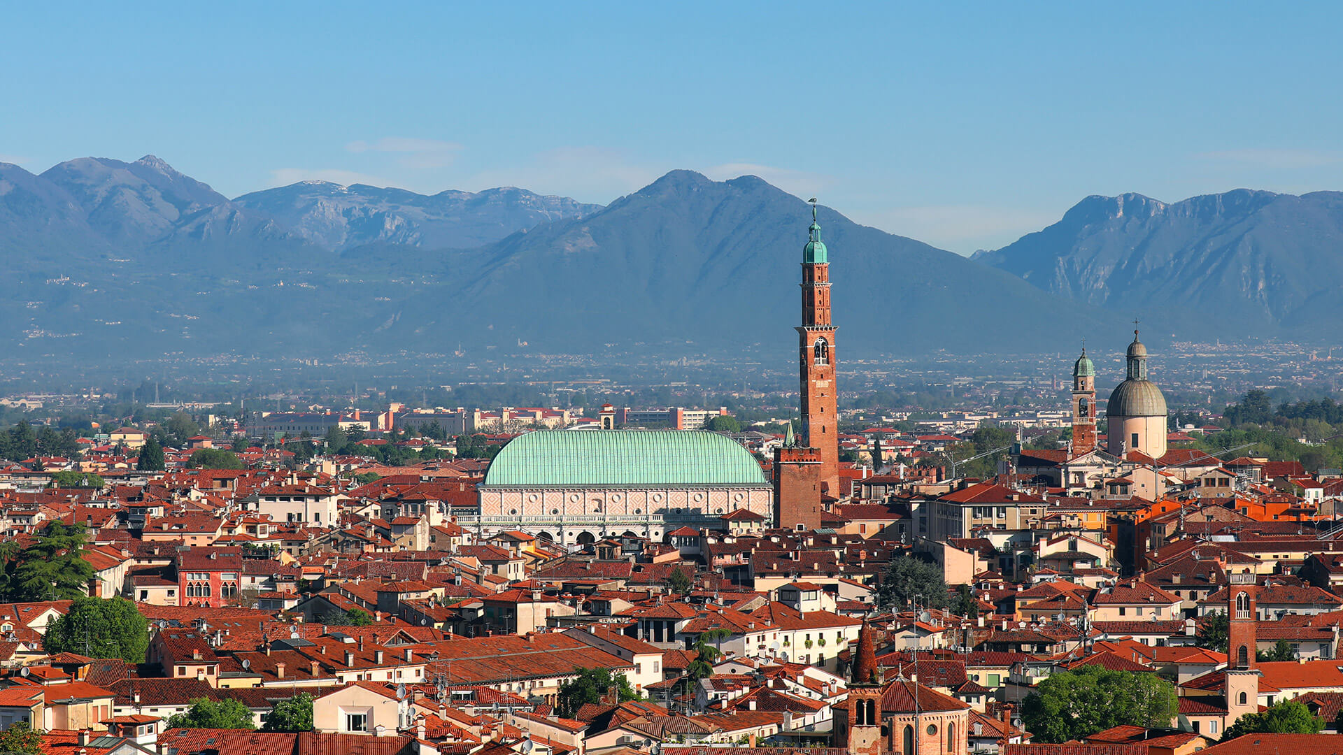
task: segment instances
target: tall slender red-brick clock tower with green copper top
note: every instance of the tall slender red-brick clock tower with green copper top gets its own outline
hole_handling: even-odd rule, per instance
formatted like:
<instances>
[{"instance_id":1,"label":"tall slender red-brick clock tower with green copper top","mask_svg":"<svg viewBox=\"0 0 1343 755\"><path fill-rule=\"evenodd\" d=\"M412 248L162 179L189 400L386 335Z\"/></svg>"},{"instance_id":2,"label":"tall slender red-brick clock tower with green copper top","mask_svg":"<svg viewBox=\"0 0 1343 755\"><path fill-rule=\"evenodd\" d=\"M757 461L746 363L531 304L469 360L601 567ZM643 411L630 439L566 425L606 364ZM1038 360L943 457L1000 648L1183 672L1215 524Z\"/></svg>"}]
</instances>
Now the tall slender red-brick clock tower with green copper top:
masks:
<instances>
[{"instance_id":1,"label":"tall slender red-brick clock tower with green copper top","mask_svg":"<svg viewBox=\"0 0 1343 755\"><path fill-rule=\"evenodd\" d=\"M835 326L830 324L830 261L821 242L817 200L811 199L811 228L802 249L802 325L798 359L802 372L804 446L821 457L821 489L839 496L839 418L835 415Z\"/></svg>"}]
</instances>

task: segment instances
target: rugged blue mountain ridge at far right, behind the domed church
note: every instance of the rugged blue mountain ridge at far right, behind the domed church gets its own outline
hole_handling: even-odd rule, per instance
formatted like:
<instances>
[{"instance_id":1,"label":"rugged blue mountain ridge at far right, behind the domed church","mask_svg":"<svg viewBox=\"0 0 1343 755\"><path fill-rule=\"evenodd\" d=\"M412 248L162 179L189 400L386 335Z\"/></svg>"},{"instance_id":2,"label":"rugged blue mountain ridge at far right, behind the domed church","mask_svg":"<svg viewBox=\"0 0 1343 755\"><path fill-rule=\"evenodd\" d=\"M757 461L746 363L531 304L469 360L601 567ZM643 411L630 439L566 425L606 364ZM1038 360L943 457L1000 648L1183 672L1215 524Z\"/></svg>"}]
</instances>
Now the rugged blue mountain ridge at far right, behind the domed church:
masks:
<instances>
[{"instance_id":1,"label":"rugged blue mountain ridge at far right, behind the domed church","mask_svg":"<svg viewBox=\"0 0 1343 755\"><path fill-rule=\"evenodd\" d=\"M974 259L1095 306L1159 313L1189 336L1332 339L1343 316L1343 192L1236 189L1172 204L1089 196Z\"/></svg>"}]
</instances>

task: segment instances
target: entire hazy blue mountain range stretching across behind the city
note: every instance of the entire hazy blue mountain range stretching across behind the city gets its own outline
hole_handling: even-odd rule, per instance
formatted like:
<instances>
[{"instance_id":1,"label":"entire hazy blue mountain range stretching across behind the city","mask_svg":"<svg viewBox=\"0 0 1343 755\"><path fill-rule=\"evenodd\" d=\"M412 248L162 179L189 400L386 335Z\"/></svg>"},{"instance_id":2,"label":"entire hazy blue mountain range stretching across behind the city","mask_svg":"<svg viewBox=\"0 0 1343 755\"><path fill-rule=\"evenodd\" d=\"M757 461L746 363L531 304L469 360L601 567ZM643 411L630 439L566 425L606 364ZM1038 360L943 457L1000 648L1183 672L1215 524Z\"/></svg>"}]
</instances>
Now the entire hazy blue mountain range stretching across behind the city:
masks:
<instances>
[{"instance_id":1,"label":"entire hazy blue mountain range stretching across behind the city","mask_svg":"<svg viewBox=\"0 0 1343 755\"><path fill-rule=\"evenodd\" d=\"M1228 322L1334 337L1339 318L1312 313L1339 306L1340 196L1088 197L975 259L822 207L839 348L1056 351L1133 313L1187 337ZM0 164L0 344L12 359L611 344L790 359L808 222L761 179L690 171L600 207L322 181L230 200L153 156Z\"/></svg>"}]
</instances>

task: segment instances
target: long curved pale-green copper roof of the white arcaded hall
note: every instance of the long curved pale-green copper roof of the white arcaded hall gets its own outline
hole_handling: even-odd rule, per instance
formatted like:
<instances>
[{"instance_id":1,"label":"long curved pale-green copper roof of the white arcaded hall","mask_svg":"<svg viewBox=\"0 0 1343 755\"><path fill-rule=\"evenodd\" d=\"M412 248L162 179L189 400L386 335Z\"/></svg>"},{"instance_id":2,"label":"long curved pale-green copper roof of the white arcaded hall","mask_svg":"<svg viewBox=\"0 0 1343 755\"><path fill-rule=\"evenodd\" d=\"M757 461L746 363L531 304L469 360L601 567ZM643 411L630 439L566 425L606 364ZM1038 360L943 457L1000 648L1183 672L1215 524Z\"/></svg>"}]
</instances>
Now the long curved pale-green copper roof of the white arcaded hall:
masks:
<instances>
[{"instance_id":1,"label":"long curved pale-green copper roof of the white arcaded hall","mask_svg":"<svg viewBox=\"0 0 1343 755\"><path fill-rule=\"evenodd\" d=\"M759 485L764 472L740 443L705 430L537 430L509 441L485 485Z\"/></svg>"}]
</instances>

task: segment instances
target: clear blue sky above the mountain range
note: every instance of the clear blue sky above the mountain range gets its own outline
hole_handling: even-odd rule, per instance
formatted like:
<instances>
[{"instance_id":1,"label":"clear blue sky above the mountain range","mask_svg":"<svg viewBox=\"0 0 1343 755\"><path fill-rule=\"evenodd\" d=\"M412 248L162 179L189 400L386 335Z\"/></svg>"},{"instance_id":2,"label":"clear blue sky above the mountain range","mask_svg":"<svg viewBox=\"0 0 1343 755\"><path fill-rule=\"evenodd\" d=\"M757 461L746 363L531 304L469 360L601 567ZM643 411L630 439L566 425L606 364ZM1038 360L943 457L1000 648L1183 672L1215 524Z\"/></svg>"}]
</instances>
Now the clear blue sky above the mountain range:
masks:
<instances>
[{"instance_id":1,"label":"clear blue sky above the mountain range","mask_svg":"<svg viewBox=\"0 0 1343 755\"><path fill-rule=\"evenodd\" d=\"M837 7L833 7L837 5ZM1340 3L7 3L0 161L607 203L759 175L968 254L1086 195L1343 189Z\"/></svg>"}]
</instances>

